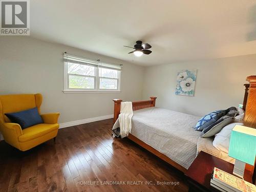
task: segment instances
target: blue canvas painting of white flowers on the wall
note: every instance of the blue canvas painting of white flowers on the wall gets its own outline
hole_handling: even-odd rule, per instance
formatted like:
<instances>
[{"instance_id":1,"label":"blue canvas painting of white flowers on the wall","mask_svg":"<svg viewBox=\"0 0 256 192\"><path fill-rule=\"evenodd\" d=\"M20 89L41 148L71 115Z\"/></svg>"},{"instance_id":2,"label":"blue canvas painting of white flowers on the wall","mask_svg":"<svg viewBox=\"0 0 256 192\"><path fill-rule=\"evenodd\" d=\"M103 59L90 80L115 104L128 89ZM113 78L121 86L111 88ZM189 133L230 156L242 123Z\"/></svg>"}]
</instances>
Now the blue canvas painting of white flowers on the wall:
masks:
<instances>
[{"instance_id":1,"label":"blue canvas painting of white flowers on the wall","mask_svg":"<svg viewBox=\"0 0 256 192\"><path fill-rule=\"evenodd\" d=\"M177 75L176 95L194 96L197 70L181 70Z\"/></svg>"}]
</instances>

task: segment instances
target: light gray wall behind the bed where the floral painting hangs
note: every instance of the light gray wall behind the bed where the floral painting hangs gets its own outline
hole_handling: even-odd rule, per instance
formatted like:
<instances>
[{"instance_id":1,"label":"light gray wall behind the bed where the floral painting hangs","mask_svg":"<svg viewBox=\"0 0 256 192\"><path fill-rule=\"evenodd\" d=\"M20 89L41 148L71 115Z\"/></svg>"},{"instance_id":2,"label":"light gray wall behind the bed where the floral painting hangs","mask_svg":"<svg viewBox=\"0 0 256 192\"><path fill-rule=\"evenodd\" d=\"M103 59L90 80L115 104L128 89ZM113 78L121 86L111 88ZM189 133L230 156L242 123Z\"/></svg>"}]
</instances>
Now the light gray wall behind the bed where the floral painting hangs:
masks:
<instances>
[{"instance_id":1,"label":"light gray wall behind the bed where the floral painting hangs","mask_svg":"<svg viewBox=\"0 0 256 192\"><path fill-rule=\"evenodd\" d=\"M183 69L197 69L195 97L175 95ZM203 116L242 104L245 78L255 74L256 54L152 66L145 69L143 98L156 96L156 106Z\"/></svg>"}]
</instances>

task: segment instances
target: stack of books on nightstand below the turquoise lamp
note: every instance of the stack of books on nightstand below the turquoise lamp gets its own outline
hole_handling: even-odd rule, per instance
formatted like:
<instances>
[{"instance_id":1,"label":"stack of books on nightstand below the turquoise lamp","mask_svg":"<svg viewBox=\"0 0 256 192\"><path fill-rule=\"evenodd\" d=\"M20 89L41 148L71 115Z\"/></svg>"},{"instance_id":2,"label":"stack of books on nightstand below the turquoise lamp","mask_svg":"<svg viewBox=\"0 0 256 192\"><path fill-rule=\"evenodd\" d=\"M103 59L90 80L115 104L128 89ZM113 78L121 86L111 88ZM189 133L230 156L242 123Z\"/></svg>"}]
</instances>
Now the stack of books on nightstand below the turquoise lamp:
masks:
<instances>
[{"instance_id":1,"label":"stack of books on nightstand below the turquoise lamp","mask_svg":"<svg viewBox=\"0 0 256 192\"><path fill-rule=\"evenodd\" d=\"M214 167L210 185L223 192L256 192L255 185Z\"/></svg>"}]
</instances>

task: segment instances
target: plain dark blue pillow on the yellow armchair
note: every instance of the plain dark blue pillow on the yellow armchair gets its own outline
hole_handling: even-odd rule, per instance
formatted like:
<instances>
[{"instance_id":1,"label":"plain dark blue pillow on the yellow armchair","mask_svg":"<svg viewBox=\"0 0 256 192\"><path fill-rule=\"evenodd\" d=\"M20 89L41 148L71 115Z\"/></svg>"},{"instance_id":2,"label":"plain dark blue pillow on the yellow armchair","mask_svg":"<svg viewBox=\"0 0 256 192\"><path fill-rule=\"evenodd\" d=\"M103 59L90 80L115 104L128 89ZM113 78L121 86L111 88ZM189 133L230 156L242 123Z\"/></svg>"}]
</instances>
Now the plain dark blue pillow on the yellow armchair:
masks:
<instances>
[{"instance_id":1,"label":"plain dark blue pillow on the yellow armchair","mask_svg":"<svg viewBox=\"0 0 256 192\"><path fill-rule=\"evenodd\" d=\"M43 123L37 108L16 113L5 113L5 115L10 119L12 123L18 123L22 129L35 124Z\"/></svg>"}]
</instances>

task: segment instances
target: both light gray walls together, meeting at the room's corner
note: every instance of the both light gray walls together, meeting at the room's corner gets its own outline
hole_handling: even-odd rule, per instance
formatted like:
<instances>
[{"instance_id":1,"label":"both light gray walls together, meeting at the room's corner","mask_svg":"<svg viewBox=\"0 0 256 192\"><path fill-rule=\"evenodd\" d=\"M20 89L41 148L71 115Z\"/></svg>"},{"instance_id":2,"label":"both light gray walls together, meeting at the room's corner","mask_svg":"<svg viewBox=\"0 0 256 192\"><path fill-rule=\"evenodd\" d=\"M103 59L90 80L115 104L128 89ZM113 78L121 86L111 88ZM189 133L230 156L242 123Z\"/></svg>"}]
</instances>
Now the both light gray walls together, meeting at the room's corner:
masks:
<instances>
[{"instance_id":1,"label":"both light gray walls together, meeting at the room's corner","mask_svg":"<svg viewBox=\"0 0 256 192\"><path fill-rule=\"evenodd\" d=\"M64 94L62 53L122 63L121 93ZM175 95L178 70L197 69L195 97ZM157 96L161 108L202 116L243 102L246 76L256 74L256 54L140 67L111 57L31 37L0 37L0 94L41 93L42 113L60 123L113 114L113 98Z\"/></svg>"}]
</instances>

